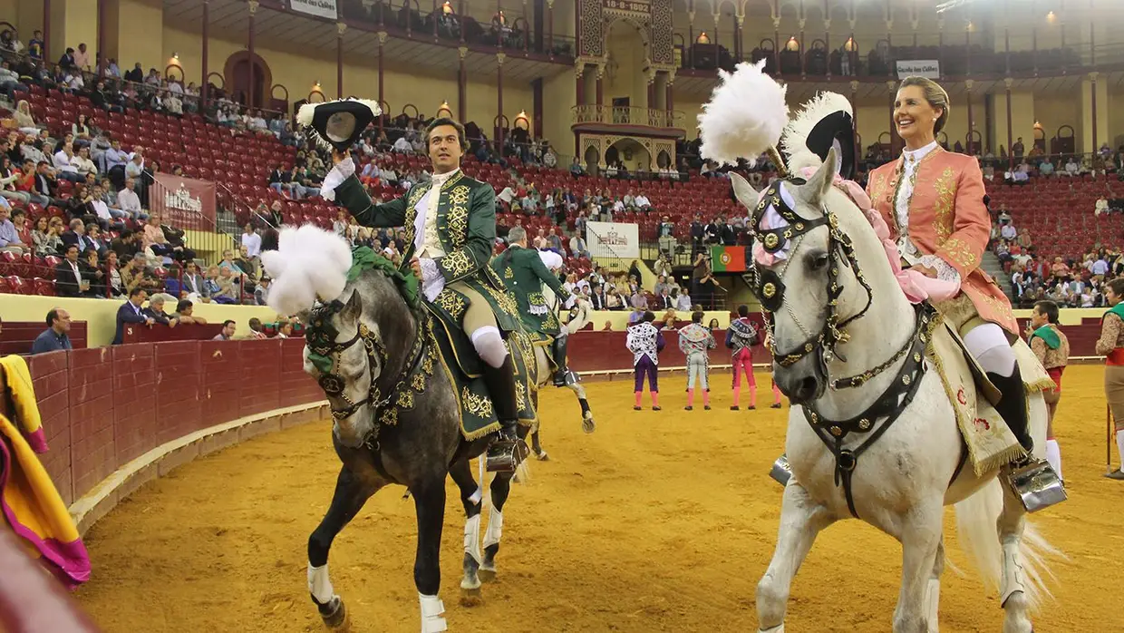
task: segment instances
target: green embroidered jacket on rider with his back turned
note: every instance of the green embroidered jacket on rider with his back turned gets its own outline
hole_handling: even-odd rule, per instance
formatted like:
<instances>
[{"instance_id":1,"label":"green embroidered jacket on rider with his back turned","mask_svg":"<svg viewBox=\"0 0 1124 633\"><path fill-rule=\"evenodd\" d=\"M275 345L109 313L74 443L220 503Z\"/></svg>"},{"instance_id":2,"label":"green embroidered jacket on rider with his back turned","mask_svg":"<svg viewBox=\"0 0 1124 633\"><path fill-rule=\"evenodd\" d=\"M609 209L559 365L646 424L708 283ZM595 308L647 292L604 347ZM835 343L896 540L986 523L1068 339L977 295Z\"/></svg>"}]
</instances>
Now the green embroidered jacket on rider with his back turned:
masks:
<instances>
[{"instance_id":1,"label":"green embroidered jacket on rider with his back turned","mask_svg":"<svg viewBox=\"0 0 1124 633\"><path fill-rule=\"evenodd\" d=\"M504 283L519 302L523 325L532 332L558 336L558 315L546 305L543 284L553 290L554 296L563 302L570 298L570 291L562 286L558 275L551 273L538 252L511 246L492 260L492 268L504 278Z\"/></svg>"}]
</instances>

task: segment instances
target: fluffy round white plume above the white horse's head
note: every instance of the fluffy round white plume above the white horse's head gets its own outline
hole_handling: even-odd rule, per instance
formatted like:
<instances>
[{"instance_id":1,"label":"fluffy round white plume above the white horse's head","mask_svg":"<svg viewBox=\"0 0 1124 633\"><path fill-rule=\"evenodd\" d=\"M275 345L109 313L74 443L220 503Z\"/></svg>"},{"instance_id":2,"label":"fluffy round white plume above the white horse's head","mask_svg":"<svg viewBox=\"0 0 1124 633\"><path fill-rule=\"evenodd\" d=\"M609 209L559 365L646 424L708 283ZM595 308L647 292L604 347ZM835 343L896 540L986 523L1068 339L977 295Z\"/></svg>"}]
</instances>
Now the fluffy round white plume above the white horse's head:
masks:
<instances>
[{"instance_id":1,"label":"fluffy round white plume above the white horse's head","mask_svg":"<svg viewBox=\"0 0 1124 633\"><path fill-rule=\"evenodd\" d=\"M720 83L698 116L704 159L727 164L753 161L780 141L788 124L788 89L761 72L764 65L764 60L742 62L733 73L718 71Z\"/></svg>"}]
</instances>

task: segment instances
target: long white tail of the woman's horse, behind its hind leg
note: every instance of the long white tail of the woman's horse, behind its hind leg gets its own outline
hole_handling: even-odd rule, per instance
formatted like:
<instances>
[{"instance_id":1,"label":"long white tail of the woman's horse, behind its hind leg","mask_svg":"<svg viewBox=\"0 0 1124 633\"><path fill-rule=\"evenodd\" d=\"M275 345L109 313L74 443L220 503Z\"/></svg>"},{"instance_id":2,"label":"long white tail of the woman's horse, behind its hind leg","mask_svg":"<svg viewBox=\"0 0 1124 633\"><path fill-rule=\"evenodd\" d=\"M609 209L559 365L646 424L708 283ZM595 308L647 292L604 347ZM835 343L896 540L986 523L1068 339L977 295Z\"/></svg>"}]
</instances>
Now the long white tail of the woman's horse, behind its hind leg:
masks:
<instances>
[{"instance_id":1,"label":"long white tail of the woman's horse, behind its hind leg","mask_svg":"<svg viewBox=\"0 0 1124 633\"><path fill-rule=\"evenodd\" d=\"M957 536L960 548L979 572L984 585L999 590L1003 577L1003 543L996 522L1003 512L1004 491L999 478L992 478L972 496L955 504ZM1017 503L1017 501L1015 501ZM1019 558L1026 575L1024 597L1032 611L1052 597L1046 580L1053 578L1048 559L1062 555L1037 527L1024 519Z\"/></svg>"}]
</instances>

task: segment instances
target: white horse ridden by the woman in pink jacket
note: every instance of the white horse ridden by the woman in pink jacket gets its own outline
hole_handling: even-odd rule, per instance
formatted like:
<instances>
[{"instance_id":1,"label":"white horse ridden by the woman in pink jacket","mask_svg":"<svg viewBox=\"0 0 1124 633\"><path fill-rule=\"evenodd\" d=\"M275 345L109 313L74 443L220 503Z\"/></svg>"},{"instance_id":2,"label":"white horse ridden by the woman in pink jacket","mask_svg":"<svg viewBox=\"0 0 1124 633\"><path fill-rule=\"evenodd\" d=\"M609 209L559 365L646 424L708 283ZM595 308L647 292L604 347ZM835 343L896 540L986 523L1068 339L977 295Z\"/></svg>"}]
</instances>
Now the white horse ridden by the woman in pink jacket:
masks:
<instances>
[{"instance_id":1,"label":"white horse ridden by the woman in pink jacket","mask_svg":"<svg viewBox=\"0 0 1124 633\"><path fill-rule=\"evenodd\" d=\"M795 202L792 210L808 223L800 228L823 224L794 235L787 259L762 270L768 279L780 281L772 287L782 301L772 315L774 351L803 350L806 342L815 341L815 333L827 332L832 308L844 332L836 354L824 354L821 349L788 367L773 363L778 386L790 395L805 396L797 398L803 403L792 403L789 415L786 454L792 476L785 488L777 549L758 584L759 626L768 633L785 630L792 578L816 535L853 514L837 483L836 455L817 436L800 405L814 404L828 419L860 415L892 381L900 380L899 371L912 353L903 356L896 352L907 346L916 332L915 308L898 287L882 244L863 212L833 186L835 173L836 154L832 150L806 183L785 182L790 202ZM737 199L755 209L758 192L737 174L731 177ZM837 219L840 233L852 242L851 263L842 251L835 251L839 244L830 239L832 223L825 221L831 219L825 216L827 211ZM835 281L842 288L834 306L828 296L830 268L839 269ZM869 287L869 297L863 282ZM869 308L863 311L868 301ZM856 318L847 323L852 317ZM895 358L899 360L860 387L826 388L828 376L862 374ZM901 589L892 630L937 631L944 569L943 507L955 504L961 543L985 580L999 587L1006 612L1004 632L1028 633L1028 613L1045 591L1040 575L1044 568L1042 557L1053 550L1030 527L1022 503L1000 485L997 472L978 477L971 467L962 468L962 438L941 378L933 368L921 376L912 401L892 424L878 418L871 426L863 419L869 433L845 435L841 445L843 451L854 451L870 436L877 437L881 425L890 424L861 453L861 459L855 458L856 467L847 477L854 514L901 542ZM1039 452L1045 446L1046 408L1042 395L1033 394L1028 406Z\"/></svg>"}]
</instances>

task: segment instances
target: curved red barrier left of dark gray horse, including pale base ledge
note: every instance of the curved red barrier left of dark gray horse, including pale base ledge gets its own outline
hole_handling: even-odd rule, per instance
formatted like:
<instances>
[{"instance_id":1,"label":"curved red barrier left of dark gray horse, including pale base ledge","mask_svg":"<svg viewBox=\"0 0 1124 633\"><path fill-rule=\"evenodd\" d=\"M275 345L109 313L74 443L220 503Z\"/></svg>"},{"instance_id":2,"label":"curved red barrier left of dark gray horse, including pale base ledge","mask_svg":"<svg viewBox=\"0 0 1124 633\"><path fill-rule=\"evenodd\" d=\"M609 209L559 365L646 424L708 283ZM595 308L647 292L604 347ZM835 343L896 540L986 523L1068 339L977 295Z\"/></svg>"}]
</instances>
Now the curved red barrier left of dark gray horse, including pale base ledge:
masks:
<instances>
[{"instance_id":1,"label":"curved red barrier left of dark gray horse, including pale base ledge","mask_svg":"<svg viewBox=\"0 0 1124 633\"><path fill-rule=\"evenodd\" d=\"M49 446L40 459L80 531L198 455L326 417L303 346L174 341L30 356Z\"/></svg>"}]
</instances>

